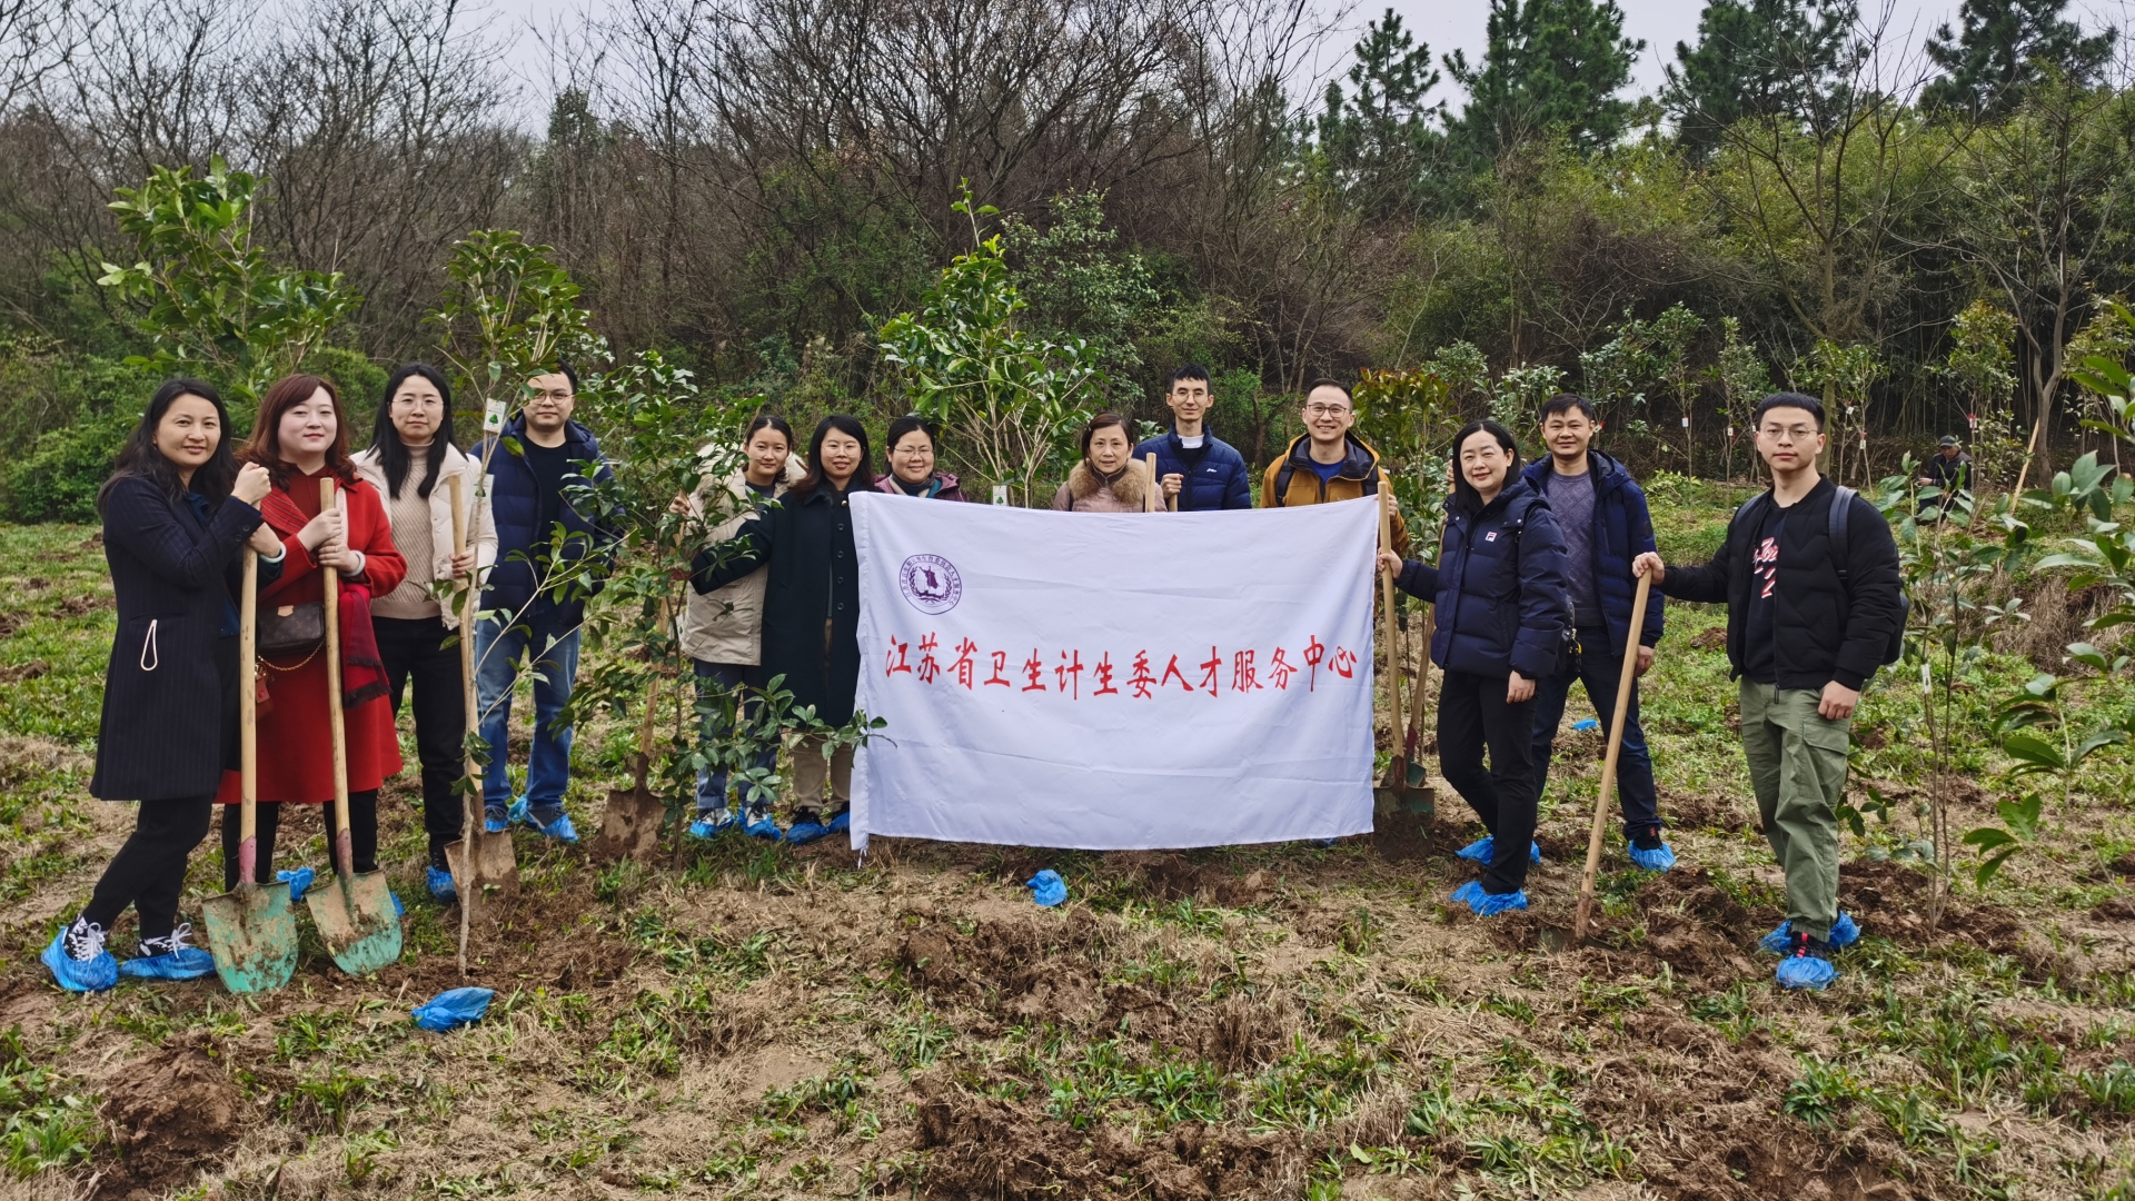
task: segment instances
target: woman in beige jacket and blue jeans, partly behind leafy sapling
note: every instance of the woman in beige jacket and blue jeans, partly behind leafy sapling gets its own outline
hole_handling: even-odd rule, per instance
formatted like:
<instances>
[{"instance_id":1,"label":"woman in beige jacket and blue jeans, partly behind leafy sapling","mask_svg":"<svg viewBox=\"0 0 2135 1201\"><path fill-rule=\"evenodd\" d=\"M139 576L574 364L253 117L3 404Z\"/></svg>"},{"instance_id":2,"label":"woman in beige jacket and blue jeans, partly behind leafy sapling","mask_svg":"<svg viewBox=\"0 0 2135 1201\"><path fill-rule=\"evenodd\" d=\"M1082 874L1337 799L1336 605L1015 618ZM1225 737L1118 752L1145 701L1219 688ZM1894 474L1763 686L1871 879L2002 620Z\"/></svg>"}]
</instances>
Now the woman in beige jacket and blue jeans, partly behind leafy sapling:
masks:
<instances>
[{"instance_id":1,"label":"woman in beige jacket and blue jeans, partly behind leafy sapling","mask_svg":"<svg viewBox=\"0 0 2135 1201\"><path fill-rule=\"evenodd\" d=\"M792 453L794 432L786 419L762 415L749 421L743 434L743 468L722 483L707 479L690 496L690 511L705 515L707 500L715 487L724 487L732 498L732 517L713 526L705 534L705 545L732 539L741 524L756 515L758 504L777 500L807 474L807 466ZM762 688L758 665L764 660L764 579L769 566L702 596L692 588L681 615L681 648L696 671L698 705L724 707L728 697L741 705L741 714L754 714L762 697L745 695L743 688ZM705 716L702 737L709 742L724 733L719 718ZM758 752L752 767L769 771L777 763L777 746ZM771 816L771 797L752 799L743 816L734 816L726 804L726 767L702 767L696 774L696 821L690 823L690 838L717 838L737 825L756 838L779 838L779 823Z\"/></svg>"}]
</instances>

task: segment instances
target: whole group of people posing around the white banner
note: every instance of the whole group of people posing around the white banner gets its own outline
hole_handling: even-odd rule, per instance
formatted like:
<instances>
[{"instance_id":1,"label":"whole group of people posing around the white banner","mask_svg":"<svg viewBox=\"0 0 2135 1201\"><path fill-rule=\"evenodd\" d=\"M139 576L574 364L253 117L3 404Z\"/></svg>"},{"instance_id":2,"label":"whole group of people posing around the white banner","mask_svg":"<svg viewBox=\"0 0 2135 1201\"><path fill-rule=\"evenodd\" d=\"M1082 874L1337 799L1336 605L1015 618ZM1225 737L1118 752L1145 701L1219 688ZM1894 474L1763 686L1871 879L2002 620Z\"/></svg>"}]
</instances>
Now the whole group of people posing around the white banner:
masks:
<instances>
[{"instance_id":1,"label":"whole group of people posing around the white banner","mask_svg":"<svg viewBox=\"0 0 2135 1201\"><path fill-rule=\"evenodd\" d=\"M120 624L90 791L141 801L139 821L90 904L45 949L62 987L213 970L211 957L188 945L177 900L218 804L226 806L224 885L237 885L228 806L239 799L239 688L260 697L258 883L295 876L301 891L310 880L305 868L275 872L273 844L282 806L322 804L335 789L322 746L320 639L301 637L305 607L325 596L325 568L339 588L354 870L378 868L378 786L401 771L395 718L412 692L427 889L453 900L444 846L461 829L468 718L455 596L468 588L480 590L476 709L480 737L493 748L480 786L485 825L504 831L523 823L576 842L564 808L572 731L562 712L585 603L611 553L608 534L570 502L574 485L606 474L598 440L572 421L576 391L564 365L534 376L502 434L463 451L450 440L444 376L412 363L391 376L361 455L348 453L342 400L318 376L278 380L241 451L228 444L228 412L209 385L171 380L156 393L100 494ZM1253 506L1245 457L1206 425L1208 372L1179 368L1166 402L1172 427L1140 444L1125 415L1091 419L1053 509ZM1315 380L1300 421L1304 432L1260 477L1260 506L1354 500L1390 487L1377 451L1354 434L1345 385ZM1392 549L1379 556L1403 592L1435 605L1441 774L1488 831L1458 851L1480 874L1452 900L1477 915L1527 906L1527 870L1539 861L1535 810L1571 684L1584 684L1608 733L1625 658L1642 675L1663 635L1659 600L1631 628L1638 579L1650 577L1667 596L1727 603L1742 746L1764 829L1787 872L1787 921L1764 942L1785 955L1781 983L1821 987L1834 977L1830 949L1860 936L1836 908L1836 806L1853 707L1892 658L1887 648L1904 622L1889 526L1872 504L1817 474L1821 404L1776 393L1755 415L1772 489L1734 515L1710 564L1667 566L1638 481L1591 449L1597 430L1591 402L1559 395L1541 412L1548 457L1522 464L1509 430L1465 425L1454 438L1437 562L1407 558L1398 513ZM707 739L724 733L717 714L752 714L771 680L826 727L852 720L860 671L852 494L971 500L954 474L937 470L929 423L901 417L886 440L886 470L873 474L869 436L854 417L824 417L805 449L784 419L756 417L741 432L741 468L726 479L705 474L692 496L675 500L700 517L679 639L694 660ZM1155 472L1144 468L1149 457ZM470 498L463 513L453 511L455 477ZM322 479L337 481L333 504L320 498ZM719 513L732 515L715 519ZM258 553L260 564L254 682L239 680L237 665L246 553ZM534 673L536 712L525 791L515 797L506 748L521 669ZM218 703L203 705L203 697ZM796 739L784 825L766 789L756 786L775 754L771 744L756 752L741 771L752 782L719 767L700 771L687 836L741 831L798 844L843 829L850 746ZM1674 851L1663 840L1635 688L1618 780L1631 861L1665 872ZM105 940L128 906L139 915L139 949L117 964Z\"/></svg>"}]
</instances>

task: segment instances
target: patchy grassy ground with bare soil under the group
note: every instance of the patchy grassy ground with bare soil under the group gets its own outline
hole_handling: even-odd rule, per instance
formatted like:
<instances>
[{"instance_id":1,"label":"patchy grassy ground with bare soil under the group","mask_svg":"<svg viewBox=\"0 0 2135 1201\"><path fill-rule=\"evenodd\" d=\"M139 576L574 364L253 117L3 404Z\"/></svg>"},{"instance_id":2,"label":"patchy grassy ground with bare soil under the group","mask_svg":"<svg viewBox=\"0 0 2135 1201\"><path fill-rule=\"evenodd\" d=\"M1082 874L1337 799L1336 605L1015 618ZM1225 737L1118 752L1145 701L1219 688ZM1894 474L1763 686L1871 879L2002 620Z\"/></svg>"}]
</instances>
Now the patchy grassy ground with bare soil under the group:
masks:
<instances>
[{"instance_id":1,"label":"patchy grassy ground with bare soil under the group","mask_svg":"<svg viewBox=\"0 0 2135 1201\"><path fill-rule=\"evenodd\" d=\"M1661 500L1663 549L1717 545L1729 496ZM1332 848L1179 855L877 840L856 865L730 840L598 868L521 836L525 889L476 930L497 1002L425 1034L408 1009L461 983L457 910L412 900L406 782L384 801L412 900L393 970L346 979L314 945L260 998L49 985L34 955L128 821L83 795L109 590L92 530L0 528L0 1192L2135 1197L2126 759L1930 934L1917 703L1879 684L1857 782L1894 804L1843 870L1866 938L1830 992L1781 994L1721 615L1670 622L1648 731L1682 865L1629 872L1612 836L1588 949L1541 942L1578 889L1582 733L1535 908L1492 921L1443 904L1475 833L1454 797ZM1977 684L2030 671L1998 656ZM581 739L581 829L626 737ZM1960 829L2007 795L1968 757ZM322 868L322 844L288 861ZM1044 865L1072 904L1014 885ZM209 840L188 904L218 880Z\"/></svg>"}]
</instances>

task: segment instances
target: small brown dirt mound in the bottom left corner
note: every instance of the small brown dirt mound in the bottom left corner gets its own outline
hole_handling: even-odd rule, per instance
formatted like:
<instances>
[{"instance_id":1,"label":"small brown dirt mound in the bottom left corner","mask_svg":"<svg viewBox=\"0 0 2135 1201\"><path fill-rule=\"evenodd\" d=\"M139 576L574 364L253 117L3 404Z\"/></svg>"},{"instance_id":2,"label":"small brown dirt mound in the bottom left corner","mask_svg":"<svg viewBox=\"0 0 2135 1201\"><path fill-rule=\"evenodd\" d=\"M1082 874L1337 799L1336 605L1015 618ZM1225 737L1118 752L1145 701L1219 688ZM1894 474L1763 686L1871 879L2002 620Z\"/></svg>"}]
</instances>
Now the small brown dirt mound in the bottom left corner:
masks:
<instances>
[{"instance_id":1,"label":"small brown dirt mound in the bottom left corner","mask_svg":"<svg viewBox=\"0 0 2135 1201\"><path fill-rule=\"evenodd\" d=\"M109 1088L105 1122L120 1145L120 1169L96 1197L160 1192L192 1175L237 1139L246 1103L222 1066L196 1045L173 1045L128 1069Z\"/></svg>"}]
</instances>

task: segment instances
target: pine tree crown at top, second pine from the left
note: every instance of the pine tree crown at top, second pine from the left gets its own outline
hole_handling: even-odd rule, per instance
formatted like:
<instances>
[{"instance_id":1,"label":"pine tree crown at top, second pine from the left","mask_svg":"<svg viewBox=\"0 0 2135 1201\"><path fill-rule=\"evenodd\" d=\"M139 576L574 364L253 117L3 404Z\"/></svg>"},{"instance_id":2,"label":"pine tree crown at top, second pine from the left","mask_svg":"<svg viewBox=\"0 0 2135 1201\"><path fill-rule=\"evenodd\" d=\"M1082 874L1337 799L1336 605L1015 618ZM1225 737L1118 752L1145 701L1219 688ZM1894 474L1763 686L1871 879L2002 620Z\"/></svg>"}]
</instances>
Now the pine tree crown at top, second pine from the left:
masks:
<instances>
[{"instance_id":1,"label":"pine tree crown at top, second pine from the left","mask_svg":"<svg viewBox=\"0 0 2135 1201\"><path fill-rule=\"evenodd\" d=\"M1469 66L1458 49L1445 58L1469 90L1448 132L1471 167L1550 130L1580 150L1606 150L1629 124L1631 105L1616 94L1642 49L1623 36L1616 0L1490 0L1482 64Z\"/></svg>"}]
</instances>

